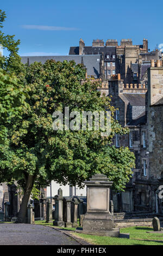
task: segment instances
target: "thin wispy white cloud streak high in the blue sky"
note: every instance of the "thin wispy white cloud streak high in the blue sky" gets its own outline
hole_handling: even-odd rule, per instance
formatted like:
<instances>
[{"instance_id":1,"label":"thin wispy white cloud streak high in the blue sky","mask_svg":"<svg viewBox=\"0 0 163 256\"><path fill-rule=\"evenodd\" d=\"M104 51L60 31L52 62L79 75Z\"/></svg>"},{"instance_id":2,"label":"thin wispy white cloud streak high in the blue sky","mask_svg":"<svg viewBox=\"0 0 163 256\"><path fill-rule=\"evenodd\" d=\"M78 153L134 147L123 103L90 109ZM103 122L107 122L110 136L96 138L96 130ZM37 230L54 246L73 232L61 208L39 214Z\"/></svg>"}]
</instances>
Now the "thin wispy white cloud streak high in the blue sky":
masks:
<instances>
[{"instance_id":1,"label":"thin wispy white cloud streak high in the blue sky","mask_svg":"<svg viewBox=\"0 0 163 256\"><path fill-rule=\"evenodd\" d=\"M77 28L40 26L40 25L22 25L21 27L25 28L25 29L39 29L39 30L43 30L43 31L73 31L73 30L78 30Z\"/></svg>"}]
</instances>

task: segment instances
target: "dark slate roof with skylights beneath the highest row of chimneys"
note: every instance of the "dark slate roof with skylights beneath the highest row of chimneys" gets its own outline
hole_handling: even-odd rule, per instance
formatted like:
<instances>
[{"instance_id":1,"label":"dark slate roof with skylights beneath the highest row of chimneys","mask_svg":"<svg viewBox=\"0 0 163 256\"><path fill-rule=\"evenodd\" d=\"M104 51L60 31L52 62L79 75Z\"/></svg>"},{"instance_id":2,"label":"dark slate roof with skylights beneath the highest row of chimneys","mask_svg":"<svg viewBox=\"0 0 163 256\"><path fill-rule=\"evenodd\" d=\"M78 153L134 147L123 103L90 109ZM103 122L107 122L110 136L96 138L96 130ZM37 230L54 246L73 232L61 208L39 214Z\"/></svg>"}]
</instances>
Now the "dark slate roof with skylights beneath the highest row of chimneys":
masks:
<instances>
[{"instance_id":1,"label":"dark slate roof with skylights beneath the highest row of chimneys","mask_svg":"<svg viewBox=\"0 0 163 256\"><path fill-rule=\"evenodd\" d=\"M102 54L104 53L104 58L109 54L110 57L116 54L116 46L101 46L101 47L92 47L92 46L84 46L83 55L92 55L92 54ZM69 55L79 54L79 47L70 47Z\"/></svg>"}]
</instances>

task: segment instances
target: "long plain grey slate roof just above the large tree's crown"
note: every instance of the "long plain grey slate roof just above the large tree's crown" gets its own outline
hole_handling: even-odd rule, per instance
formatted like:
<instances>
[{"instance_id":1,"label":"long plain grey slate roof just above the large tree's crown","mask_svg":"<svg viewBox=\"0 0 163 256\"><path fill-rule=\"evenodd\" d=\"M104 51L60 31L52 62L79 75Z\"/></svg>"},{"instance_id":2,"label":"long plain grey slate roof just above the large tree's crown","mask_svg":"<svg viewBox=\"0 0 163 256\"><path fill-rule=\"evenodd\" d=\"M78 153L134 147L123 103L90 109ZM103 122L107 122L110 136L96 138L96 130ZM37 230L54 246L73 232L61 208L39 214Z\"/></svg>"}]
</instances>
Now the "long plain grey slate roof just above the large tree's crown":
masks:
<instances>
[{"instance_id":1,"label":"long plain grey slate roof just above the large tree's crown","mask_svg":"<svg viewBox=\"0 0 163 256\"><path fill-rule=\"evenodd\" d=\"M32 64L34 62L41 62L44 64L46 60L48 59L54 59L56 62L63 62L64 60L67 60L68 62L70 60L74 60L76 64L79 64L83 62L87 69L87 75L89 76L95 76L95 78L99 77L99 61L97 59L100 59L100 55L69 55L69 56L22 56L21 62L23 64L26 64L29 59L29 64Z\"/></svg>"}]
</instances>

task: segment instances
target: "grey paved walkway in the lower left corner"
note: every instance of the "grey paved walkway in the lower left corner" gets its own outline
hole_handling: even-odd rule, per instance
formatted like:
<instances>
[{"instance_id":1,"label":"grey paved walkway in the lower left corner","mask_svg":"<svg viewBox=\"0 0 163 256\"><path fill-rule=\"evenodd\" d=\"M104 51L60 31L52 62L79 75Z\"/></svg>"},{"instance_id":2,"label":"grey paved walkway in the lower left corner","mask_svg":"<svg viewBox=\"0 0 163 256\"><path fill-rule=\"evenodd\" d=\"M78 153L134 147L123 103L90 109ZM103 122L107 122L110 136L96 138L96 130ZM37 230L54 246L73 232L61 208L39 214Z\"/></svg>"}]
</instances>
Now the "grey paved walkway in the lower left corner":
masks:
<instances>
[{"instance_id":1,"label":"grey paved walkway in the lower left corner","mask_svg":"<svg viewBox=\"0 0 163 256\"><path fill-rule=\"evenodd\" d=\"M80 245L51 227L0 223L0 245Z\"/></svg>"}]
</instances>

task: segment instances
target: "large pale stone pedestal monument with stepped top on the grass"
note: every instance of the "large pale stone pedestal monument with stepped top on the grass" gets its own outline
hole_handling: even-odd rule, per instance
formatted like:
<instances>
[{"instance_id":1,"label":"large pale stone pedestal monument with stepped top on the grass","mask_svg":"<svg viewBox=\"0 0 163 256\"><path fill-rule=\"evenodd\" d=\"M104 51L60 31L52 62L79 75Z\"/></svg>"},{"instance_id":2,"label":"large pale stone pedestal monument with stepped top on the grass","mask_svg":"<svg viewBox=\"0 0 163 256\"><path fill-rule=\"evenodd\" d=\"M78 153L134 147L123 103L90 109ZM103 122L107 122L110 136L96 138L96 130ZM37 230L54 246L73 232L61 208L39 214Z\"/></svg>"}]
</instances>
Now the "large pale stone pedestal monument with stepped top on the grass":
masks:
<instances>
[{"instance_id":1,"label":"large pale stone pedestal monument with stepped top on the grass","mask_svg":"<svg viewBox=\"0 0 163 256\"><path fill-rule=\"evenodd\" d=\"M90 181L85 181L87 186L87 212L83 220L83 230L77 232L101 235L120 235L120 230L115 227L113 215L110 211L110 187L112 181L104 174L95 174Z\"/></svg>"}]
</instances>

